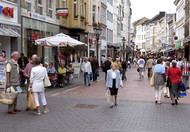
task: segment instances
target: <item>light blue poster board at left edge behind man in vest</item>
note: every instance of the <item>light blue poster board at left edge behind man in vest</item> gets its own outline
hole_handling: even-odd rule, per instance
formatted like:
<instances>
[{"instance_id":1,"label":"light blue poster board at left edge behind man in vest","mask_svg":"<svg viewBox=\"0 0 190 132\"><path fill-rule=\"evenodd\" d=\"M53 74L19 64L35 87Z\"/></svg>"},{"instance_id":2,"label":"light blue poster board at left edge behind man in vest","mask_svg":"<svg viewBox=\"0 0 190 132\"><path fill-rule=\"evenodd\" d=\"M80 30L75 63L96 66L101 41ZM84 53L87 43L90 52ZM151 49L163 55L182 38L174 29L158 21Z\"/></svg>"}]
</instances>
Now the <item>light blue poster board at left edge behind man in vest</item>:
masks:
<instances>
[{"instance_id":1,"label":"light blue poster board at left edge behind man in vest","mask_svg":"<svg viewBox=\"0 0 190 132\"><path fill-rule=\"evenodd\" d=\"M0 63L0 88L6 88L6 63Z\"/></svg>"}]
</instances>

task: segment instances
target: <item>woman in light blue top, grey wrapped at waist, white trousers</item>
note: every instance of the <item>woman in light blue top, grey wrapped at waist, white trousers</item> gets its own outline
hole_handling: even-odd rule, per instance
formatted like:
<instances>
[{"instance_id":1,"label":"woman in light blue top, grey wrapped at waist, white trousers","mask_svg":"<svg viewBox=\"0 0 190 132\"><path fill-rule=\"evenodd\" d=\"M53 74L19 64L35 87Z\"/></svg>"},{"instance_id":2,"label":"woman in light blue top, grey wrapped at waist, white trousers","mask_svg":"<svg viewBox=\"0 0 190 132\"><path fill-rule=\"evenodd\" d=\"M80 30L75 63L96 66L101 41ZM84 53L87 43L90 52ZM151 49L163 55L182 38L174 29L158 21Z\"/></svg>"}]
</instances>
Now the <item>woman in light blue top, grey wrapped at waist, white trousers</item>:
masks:
<instances>
[{"instance_id":1,"label":"woman in light blue top, grey wrapped at waist, white trousers","mask_svg":"<svg viewBox=\"0 0 190 132\"><path fill-rule=\"evenodd\" d=\"M155 72L154 84L155 84L155 103L161 104L162 99L162 90L164 87L164 75L165 75L165 67L162 65L163 60L158 59L157 64L153 71Z\"/></svg>"}]
</instances>

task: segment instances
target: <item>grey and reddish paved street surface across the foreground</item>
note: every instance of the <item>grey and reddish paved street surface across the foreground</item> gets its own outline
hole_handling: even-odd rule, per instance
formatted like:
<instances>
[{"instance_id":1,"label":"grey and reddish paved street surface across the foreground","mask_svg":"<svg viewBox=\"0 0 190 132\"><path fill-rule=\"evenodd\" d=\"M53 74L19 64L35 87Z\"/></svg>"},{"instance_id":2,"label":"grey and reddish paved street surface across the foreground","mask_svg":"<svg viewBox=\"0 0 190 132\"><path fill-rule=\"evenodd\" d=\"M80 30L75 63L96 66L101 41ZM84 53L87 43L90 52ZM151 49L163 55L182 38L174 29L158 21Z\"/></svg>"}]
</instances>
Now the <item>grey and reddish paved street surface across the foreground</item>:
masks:
<instances>
[{"instance_id":1,"label":"grey and reddish paved street surface across the foreground","mask_svg":"<svg viewBox=\"0 0 190 132\"><path fill-rule=\"evenodd\" d=\"M148 83L130 69L113 109L104 99L104 80L90 87L48 91L50 112L41 116L33 111L8 115L7 106L0 104L0 132L189 132L189 97L180 99L178 106L171 106L168 99L155 105ZM25 109L25 99L25 94L19 95L19 109Z\"/></svg>"}]
</instances>

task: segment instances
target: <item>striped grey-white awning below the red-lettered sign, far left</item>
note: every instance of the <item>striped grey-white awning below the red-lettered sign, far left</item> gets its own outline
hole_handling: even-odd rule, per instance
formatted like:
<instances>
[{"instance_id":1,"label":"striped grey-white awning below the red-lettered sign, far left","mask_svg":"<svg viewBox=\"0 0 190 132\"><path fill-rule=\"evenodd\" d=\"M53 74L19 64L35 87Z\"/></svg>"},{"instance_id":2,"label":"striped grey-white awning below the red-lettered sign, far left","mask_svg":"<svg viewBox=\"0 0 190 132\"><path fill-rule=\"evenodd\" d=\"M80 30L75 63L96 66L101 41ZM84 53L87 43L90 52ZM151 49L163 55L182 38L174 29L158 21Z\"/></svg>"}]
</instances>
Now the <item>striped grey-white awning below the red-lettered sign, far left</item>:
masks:
<instances>
[{"instance_id":1,"label":"striped grey-white awning below the red-lettered sign, far left","mask_svg":"<svg viewBox=\"0 0 190 132\"><path fill-rule=\"evenodd\" d=\"M0 28L1 36L20 37L20 34L11 28Z\"/></svg>"}]
</instances>

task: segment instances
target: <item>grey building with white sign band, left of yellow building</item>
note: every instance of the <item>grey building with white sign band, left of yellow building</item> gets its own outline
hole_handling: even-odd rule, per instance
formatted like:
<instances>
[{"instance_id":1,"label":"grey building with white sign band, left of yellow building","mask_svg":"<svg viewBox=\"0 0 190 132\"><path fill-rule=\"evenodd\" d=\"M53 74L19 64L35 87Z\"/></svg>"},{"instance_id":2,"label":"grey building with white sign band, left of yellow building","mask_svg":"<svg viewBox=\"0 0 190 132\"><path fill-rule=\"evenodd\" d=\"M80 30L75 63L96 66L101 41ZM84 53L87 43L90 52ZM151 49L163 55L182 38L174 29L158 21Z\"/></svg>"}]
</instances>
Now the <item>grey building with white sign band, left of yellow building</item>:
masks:
<instances>
[{"instance_id":1,"label":"grey building with white sign band, left of yellow building","mask_svg":"<svg viewBox=\"0 0 190 132\"><path fill-rule=\"evenodd\" d=\"M56 0L21 0L22 52L31 57L37 54L44 62L56 59L56 49L36 46L35 40L59 33Z\"/></svg>"}]
</instances>

